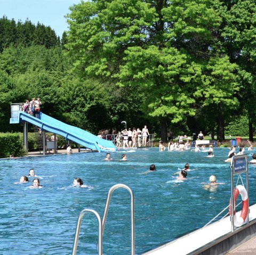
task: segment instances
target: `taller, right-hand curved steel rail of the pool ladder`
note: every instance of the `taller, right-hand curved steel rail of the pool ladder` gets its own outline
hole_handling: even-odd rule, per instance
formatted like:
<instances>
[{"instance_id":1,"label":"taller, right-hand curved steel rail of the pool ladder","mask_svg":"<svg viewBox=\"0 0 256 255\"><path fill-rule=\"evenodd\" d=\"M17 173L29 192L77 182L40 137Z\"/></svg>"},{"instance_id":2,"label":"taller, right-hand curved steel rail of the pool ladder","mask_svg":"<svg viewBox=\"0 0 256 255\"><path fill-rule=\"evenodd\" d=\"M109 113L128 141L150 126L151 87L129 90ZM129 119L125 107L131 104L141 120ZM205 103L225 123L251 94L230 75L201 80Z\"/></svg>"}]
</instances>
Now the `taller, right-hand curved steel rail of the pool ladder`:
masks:
<instances>
[{"instance_id":1,"label":"taller, right-hand curved steel rail of the pool ladder","mask_svg":"<svg viewBox=\"0 0 256 255\"><path fill-rule=\"evenodd\" d=\"M116 184L110 188L108 192L108 198L105 206L103 219L102 219L102 235L105 229L106 219L108 216L108 208L109 208L111 195L117 188L125 188L127 191L130 192L130 195L131 195L131 255L134 255L135 254L134 195L130 187L124 184Z\"/></svg>"}]
</instances>

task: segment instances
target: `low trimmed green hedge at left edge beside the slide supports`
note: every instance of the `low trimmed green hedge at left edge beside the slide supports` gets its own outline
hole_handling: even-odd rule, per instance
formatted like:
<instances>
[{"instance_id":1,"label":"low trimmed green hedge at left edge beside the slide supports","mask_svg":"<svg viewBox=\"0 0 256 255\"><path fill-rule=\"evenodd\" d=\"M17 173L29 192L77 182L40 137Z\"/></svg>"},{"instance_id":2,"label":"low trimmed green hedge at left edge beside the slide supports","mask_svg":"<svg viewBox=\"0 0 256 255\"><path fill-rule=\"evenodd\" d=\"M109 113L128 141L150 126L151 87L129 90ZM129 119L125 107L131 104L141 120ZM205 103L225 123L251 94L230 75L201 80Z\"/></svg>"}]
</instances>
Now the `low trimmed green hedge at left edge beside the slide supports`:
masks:
<instances>
[{"instance_id":1,"label":"low trimmed green hedge at left edge beside the slide supports","mask_svg":"<svg viewBox=\"0 0 256 255\"><path fill-rule=\"evenodd\" d=\"M0 133L0 158L22 157L27 154L19 133Z\"/></svg>"}]
</instances>

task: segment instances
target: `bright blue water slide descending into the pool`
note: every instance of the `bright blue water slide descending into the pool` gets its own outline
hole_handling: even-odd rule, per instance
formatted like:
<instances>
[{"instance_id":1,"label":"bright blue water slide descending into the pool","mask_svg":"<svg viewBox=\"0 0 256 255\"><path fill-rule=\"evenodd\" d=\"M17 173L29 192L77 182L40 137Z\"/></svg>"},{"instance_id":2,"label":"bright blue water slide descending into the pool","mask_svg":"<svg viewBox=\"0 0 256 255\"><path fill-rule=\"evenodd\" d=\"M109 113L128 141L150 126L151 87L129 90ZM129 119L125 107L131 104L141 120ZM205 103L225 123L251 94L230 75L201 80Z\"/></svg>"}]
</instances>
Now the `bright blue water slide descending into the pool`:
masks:
<instances>
[{"instance_id":1,"label":"bright blue water slide descending into the pool","mask_svg":"<svg viewBox=\"0 0 256 255\"><path fill-rule=\"evenodd\" d=\"M10 119L10 124L17 124L22 122L29 122L42 131L48 131L54 134L64 136L66 140L71 140L77 144L81 144L91 150L102 151L116 151L117 148L113 142L99 138L81 128L70 126L64 122L40 113L39 118L35 118L25 112L19 111L16 118Z\"/></svg>"}]
</instances>

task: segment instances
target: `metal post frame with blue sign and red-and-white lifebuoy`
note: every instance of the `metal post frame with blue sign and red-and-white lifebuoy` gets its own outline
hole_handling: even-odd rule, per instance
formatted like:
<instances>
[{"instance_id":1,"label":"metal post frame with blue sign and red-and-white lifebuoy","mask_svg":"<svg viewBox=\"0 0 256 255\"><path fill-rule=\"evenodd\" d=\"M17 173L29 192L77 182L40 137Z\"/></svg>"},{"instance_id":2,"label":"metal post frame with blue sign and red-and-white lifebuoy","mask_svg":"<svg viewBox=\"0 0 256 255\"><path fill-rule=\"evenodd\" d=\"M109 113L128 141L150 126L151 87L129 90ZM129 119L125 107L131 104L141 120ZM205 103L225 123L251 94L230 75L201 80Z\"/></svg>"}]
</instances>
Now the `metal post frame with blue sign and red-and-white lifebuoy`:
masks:
<instances>
[{"instance_id":1,"label":"metal post frame with blue sign and red-and-white lifebuoy","mask_svg":"<svg viewBox=\"0 0 256 255\"><path fill-rule=\"evenodd\" d=\"M229 215L231 220L231 231L234 232L235 227L241 227L245 223L249 223L249 181L248 181L248 160L246 155L235 155L230 161L231 169L231 198L229 201ZM242 184L241 174L246 175L246 188L244 185L237 185L234 188L234 176L238 176ZM240 216L236 215L236 200L238 195L242 197L242 212Z\"/></svg>"}]
</instances>

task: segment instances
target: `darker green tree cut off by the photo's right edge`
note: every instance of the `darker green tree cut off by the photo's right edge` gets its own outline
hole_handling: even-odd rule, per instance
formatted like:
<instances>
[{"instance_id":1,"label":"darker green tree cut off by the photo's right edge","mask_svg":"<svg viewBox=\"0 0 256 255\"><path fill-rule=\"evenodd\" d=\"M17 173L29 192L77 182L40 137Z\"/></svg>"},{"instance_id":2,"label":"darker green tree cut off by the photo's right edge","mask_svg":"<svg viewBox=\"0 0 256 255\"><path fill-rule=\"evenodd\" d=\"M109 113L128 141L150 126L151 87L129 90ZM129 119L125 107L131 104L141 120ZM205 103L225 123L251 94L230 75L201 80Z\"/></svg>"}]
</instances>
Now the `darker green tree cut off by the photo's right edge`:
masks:
<instances>
[{"instance_id":1,"label":"darker green tree cut off by the photo's right edge","mask_svg":"<svg viewBox=\"0 0 256 255\"><path fill-rule=\"evenodd\" d=\"M249 137L253 141L253 124L256 117L256 2L252 0L222 1L220 43L230 61L238 65L238 99L241 111L247 112ZM243 111L245 109L245 111Z\"/></svg>"}]
</instances>

